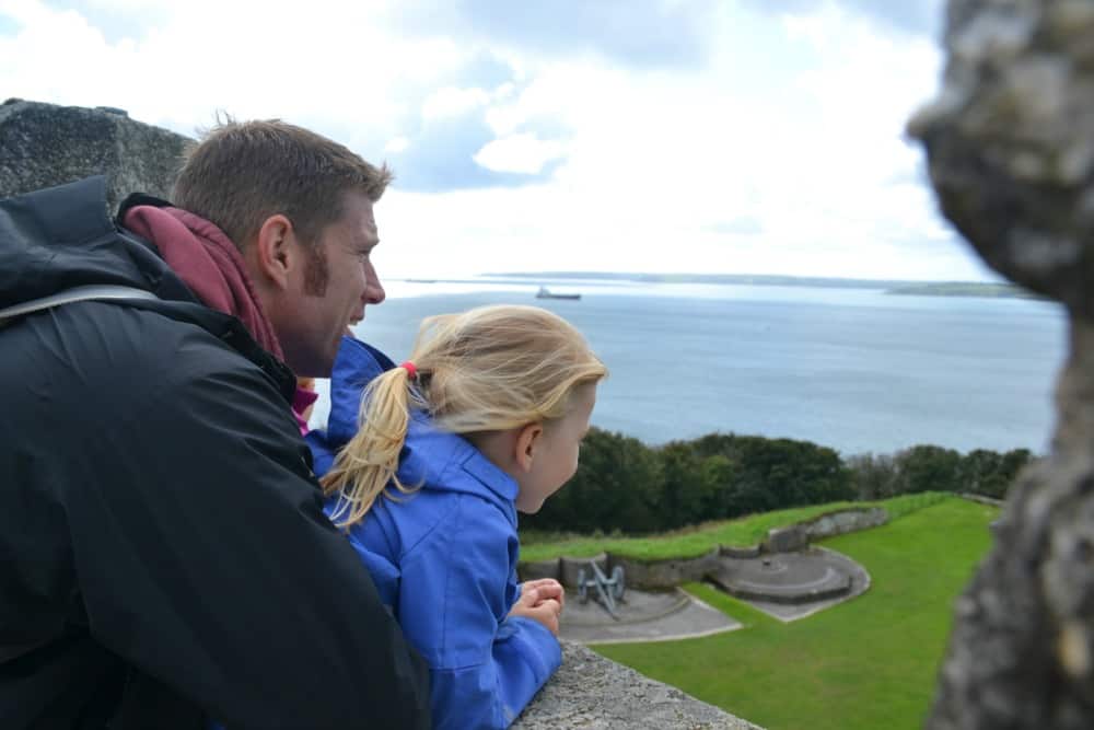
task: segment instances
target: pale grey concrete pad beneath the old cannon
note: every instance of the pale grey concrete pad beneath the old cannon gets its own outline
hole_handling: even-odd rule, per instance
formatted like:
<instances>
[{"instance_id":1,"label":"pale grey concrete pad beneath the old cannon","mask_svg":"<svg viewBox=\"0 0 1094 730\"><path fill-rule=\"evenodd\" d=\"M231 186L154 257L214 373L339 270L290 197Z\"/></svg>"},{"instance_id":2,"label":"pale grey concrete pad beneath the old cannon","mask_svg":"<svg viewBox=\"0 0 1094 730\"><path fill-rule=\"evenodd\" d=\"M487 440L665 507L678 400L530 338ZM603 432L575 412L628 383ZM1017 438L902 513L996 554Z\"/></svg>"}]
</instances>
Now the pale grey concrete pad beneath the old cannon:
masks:
<instances>
[{"instance_id":1,"label":"pale grey concrete pad beneath the old cannon","mask_svg":"<svg viewBox=\"0 0 1094 730\"><path fill-rule=\"evenodd\" d=\"M596 599L582 603L577 591L567 591L559 635L582 644L667 641L741 627L721 611L679 589L628 589L616 603L615 614L613 617Z\"/></svg>"}]
</instances>

